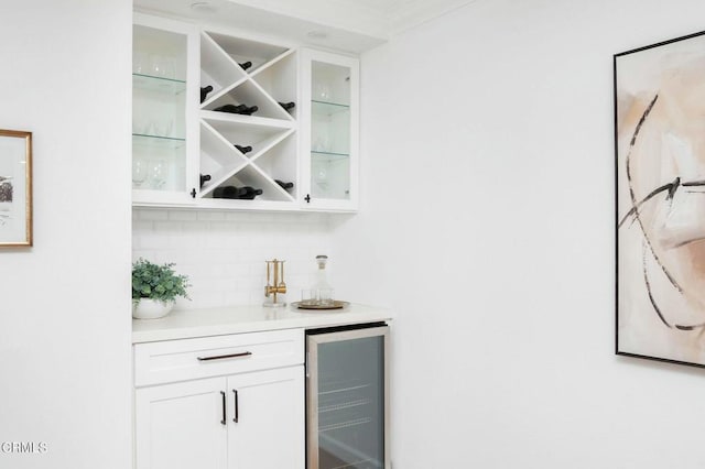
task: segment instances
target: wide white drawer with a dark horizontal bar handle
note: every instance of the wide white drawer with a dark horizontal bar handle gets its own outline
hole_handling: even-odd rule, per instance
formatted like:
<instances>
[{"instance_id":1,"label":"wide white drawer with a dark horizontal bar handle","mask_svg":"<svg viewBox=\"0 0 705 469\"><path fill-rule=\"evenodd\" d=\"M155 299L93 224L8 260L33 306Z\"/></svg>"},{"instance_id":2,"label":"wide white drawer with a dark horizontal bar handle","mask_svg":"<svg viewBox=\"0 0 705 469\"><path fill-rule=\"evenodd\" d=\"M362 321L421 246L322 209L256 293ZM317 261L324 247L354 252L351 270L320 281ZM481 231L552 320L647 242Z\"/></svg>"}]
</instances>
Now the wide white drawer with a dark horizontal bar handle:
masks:
<instances>
[{"instance_id":1,"label":"wide white drawer with a dark horizontal bar handle","mask_svg":"<svg viewBox=\"0 0 705 469\"><path fill-rule=\"evenodd\" d=\"M303 362L303 329L138 343L134 346L134 385L235 374Z\"/></svg>"}]
</instances>

